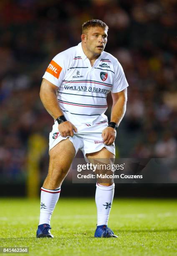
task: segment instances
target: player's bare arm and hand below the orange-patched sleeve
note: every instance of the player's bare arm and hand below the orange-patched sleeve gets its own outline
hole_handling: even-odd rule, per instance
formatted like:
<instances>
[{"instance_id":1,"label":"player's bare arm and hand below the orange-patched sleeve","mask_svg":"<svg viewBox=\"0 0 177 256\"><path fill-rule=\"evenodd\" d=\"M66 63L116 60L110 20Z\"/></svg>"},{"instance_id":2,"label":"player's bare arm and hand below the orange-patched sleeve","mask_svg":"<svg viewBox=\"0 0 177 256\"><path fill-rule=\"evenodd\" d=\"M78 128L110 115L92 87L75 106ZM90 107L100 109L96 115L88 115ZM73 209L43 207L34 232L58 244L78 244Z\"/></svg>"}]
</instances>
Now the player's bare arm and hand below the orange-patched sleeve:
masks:
<instances>
[{"instance_id":1,"label":"player's bare arm and hand below the orange-patched sleeve","mask_svg":"<svg viewBox=\"0 0 177 256\"><path fill-rule=\"evenodd\" d=\"M48 113L54 118L63 115L63 112L59 106L56 91L58 87L46 79L43 79L40 87L40 99L44 105L44 108ZM77 132L76 127L69 121L61 123L58 125L58 131L61 133L61 136L73 136L73 130Z\"/></svg>"}]
</instances>

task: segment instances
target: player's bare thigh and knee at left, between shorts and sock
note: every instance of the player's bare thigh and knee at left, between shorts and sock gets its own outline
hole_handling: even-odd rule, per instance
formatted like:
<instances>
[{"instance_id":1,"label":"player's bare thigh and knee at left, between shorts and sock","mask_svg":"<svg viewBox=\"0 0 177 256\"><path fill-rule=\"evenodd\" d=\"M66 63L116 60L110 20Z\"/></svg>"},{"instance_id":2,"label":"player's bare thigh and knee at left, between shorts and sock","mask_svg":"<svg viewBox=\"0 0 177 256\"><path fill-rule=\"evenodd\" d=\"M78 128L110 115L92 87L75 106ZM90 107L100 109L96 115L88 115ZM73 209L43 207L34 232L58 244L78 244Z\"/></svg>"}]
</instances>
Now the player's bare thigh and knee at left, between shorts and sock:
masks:
<instances>
[{"instance_id":1,"label":"player's bare thigh and knee at left, between shorts and sock","mask_svg":"<svg viewBox=\"0 0 177 256\"><path fill-rule=\"evenodd\" d=\"M75 148L73 143L69 141L69 138L60 141L50 150L48 175L44 181L43 187L46 189L56 189L61 186L75 154Z\"/></svg>"}]
</instances>

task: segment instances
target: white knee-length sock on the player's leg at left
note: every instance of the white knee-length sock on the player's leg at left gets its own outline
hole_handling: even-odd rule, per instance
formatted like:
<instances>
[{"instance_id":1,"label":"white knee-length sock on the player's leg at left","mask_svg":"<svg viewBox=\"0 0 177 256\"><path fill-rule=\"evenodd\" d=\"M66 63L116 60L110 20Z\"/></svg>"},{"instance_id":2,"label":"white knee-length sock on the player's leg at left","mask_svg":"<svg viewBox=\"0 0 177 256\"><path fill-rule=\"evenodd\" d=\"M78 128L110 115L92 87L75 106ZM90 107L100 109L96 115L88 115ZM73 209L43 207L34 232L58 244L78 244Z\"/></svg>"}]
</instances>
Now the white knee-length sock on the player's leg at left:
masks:
<instances>
[{"instance_id":1,"label":"white knee-length sock on the player's leg at left","mask_svg":"<svg viewBox=\"0 0 177 256\"><path fill-rule=\"evenodd\" d=\"M40 219L39 219L39 225L41 224L49 224L51 222L51 215L53 213L53 210L56 206L56 203L58 202L59 196L60 196L60 187L58 189L45 189L44 187L41 187L41 193L40 193Z\"/></svg>"}]
</instances>

